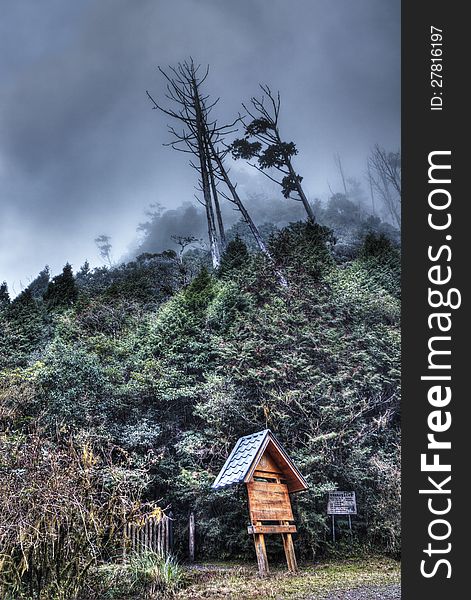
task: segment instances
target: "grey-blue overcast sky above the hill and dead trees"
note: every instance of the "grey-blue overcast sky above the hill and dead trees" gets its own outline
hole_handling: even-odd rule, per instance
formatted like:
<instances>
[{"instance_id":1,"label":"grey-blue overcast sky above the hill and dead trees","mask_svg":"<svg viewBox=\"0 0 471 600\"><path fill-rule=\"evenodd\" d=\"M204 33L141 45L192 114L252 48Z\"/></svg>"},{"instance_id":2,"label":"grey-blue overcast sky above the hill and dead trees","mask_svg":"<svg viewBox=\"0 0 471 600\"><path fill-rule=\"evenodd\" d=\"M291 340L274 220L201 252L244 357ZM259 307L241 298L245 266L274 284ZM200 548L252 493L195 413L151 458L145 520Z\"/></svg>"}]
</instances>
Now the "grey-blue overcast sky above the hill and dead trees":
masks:
<instances>
[{"instance_id":1,"label":"grey-blue overcast sky above the hill and dead trees","mask_svg":"<svg viewBox=\"0 0 471 600\"><path fill-rule=\"evenodd\" d=\"M400 144L399 0L2 0L0 281L126 252L149 204L192 201L195 173L168 141L157 65L211 65L219 116L266 82L282 93L311 199ZM233 174L242 168L239 163ZM254 171L255 173L255 171ZM247 174L244 174L247 178ZM256 182L254 182L255 185Z\"/></svg>"}]
</instances>

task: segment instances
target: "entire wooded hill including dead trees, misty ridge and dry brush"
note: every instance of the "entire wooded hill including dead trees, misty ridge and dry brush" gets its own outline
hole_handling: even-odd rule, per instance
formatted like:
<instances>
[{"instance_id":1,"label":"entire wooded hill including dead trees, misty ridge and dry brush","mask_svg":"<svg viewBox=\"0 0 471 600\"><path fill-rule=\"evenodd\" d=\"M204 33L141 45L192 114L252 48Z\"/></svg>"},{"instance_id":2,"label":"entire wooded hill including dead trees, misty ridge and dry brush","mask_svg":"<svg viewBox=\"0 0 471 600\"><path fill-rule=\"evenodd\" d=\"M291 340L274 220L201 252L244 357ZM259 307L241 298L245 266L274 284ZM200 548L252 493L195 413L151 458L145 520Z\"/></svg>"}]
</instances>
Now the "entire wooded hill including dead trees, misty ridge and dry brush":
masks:
<instances>
[{"instance_id":1,"label":"entire wooded hill including dead trees, misty ridge and dry brush","mask_svg":"<svg viewBox=\"0 0 471 600\"><path fill-rule=\"evenodd\" d=\"M190 59L160 73L168 104L147 95L172 123L167 145L191 155L203 208L154 205L121 265L103 233L106 267L45 267L14 298L0 287L9 600L142 598L148 572L168 591L173 558L122 560L125 525L162 511L180 558L191 512L200 560L252 557L245 490L211 484L236 440L266 428L308 483L293 496L299 558L399 553L400 155L376 146L368 158L372 210L338 155L344 193L311 203L280 133L279 93L261 86L221 125L208 70ZM270 179L282 209L239 191L238 160ZM336 489L355 491L359 510L333 545ZM110 565L137 574L124 596L93 580Z\"/></svg>"}]
</instances>

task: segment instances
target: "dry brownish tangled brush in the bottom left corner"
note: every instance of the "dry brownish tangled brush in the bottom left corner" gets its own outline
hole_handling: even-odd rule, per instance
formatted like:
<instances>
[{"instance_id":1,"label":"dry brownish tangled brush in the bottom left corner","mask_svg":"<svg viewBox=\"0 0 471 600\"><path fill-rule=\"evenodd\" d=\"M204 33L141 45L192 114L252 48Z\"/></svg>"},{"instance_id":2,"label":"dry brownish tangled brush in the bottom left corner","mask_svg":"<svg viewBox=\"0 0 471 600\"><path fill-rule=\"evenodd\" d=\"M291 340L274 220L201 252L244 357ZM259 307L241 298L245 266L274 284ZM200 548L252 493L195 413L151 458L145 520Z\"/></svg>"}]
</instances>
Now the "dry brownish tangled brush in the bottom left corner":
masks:
<instances>
[{"instance_id":1,"label":"dry brownish tangled brush in the bottom left corner","mask_svg":"<svg viewBox=\"0 0 471 600\"><path fill-rule=\"evenodd\" d=\"M0 452L2 598L76 598L90 569L119 551L136 490L122 469L70 440L4 433Z\"/></svg>"}]
</instances>

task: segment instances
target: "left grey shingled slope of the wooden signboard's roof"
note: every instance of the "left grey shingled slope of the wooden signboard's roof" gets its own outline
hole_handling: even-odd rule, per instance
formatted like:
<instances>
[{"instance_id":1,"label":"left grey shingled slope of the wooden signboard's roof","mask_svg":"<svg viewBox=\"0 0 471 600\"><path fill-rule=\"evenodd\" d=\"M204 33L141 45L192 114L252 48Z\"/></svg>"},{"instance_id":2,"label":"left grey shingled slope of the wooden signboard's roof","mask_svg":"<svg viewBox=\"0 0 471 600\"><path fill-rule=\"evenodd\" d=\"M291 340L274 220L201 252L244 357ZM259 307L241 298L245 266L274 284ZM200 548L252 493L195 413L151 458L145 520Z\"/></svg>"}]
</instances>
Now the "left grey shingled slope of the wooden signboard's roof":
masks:
<instances>
[{"instance_id":1,"label":"left grey shingled slope of the wooden signboard's roof","mask_svg":"<svg viewBox=\"0 0 471 600\"><path fill-rule=\"evenodd\" d=\"M211 487L220 489L244 481L260 447L269 434L270 430L264 429L239 438Z\"/></svg>"}]
</instances>

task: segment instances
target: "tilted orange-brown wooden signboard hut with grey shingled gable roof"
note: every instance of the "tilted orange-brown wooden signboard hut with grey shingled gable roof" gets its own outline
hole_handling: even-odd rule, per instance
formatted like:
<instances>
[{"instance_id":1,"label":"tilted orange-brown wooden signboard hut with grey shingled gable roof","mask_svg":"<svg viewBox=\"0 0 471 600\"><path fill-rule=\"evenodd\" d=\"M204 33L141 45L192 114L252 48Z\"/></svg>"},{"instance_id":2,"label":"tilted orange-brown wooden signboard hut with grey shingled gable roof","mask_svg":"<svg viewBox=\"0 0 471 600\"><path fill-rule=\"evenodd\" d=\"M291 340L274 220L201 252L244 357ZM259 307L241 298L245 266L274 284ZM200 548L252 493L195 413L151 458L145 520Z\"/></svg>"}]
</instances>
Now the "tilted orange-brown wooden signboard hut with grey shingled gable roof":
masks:
<instances>
[{"instance_id":1,"label":"tilted orange-brown wooden signboard hut with grey shingled gable roof","mask_svg":"<svg viewBox=\"0 0 471 600\"><path fill-rule=\"evenodd\" d=\"M260 575L268 573L265 535L281 534L290 571L296 571L296 533L290 494L307 489L304 477L269 429L239 438L212 488L244 483Z\"/></svg>"}]
</instances>

